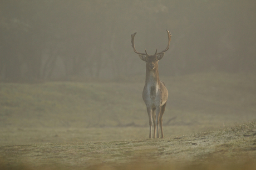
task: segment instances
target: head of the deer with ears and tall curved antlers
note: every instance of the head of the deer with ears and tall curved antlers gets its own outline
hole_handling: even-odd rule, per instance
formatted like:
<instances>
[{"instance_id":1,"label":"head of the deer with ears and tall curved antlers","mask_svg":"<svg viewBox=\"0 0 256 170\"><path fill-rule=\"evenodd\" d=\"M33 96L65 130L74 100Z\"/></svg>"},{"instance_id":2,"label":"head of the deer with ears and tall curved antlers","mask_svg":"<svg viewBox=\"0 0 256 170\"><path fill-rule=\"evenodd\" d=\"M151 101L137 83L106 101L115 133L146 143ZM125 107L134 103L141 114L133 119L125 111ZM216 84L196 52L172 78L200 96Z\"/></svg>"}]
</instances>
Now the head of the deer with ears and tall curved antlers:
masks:
<instances>
[{"instance_id":1,"label":"head of the deer with ears and tall curved antlers","mask_svg":"<svg viewBox=\"0 0 256 170\"><path fill-rule=\"evenodd\" d=\"M145 53L139 53L134 46L134 37L136 35L136 33L131 35L131 47L134 49L134 52L139 54L139 57L142 61L146 62L146 68L150 69L150 70L155 70L158 69L158 64L157 62L159 60L161 60L165 54L165 51L167 51L169 49L169 45L170 45L170 41L171 41L171 33L169 32L169 30L166 30L167 34L168 34L168 45L165 48L165 50L161 51L160 53L157 53L157 49L154 55L149 55L147 54L147 51L145 49Z\"/></svg>"}]
</instances>

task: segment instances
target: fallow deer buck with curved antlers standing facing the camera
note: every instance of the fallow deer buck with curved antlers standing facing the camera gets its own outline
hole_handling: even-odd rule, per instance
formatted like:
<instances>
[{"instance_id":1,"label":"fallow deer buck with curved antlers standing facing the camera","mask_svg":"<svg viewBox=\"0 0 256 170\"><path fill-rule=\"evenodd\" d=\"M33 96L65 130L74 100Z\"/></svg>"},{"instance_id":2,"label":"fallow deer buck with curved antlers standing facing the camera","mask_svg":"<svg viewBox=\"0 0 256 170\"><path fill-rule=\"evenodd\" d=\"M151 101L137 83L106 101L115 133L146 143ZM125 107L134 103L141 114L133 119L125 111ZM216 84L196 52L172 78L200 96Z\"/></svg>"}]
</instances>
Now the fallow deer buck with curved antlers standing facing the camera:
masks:
<instances>
[{"instance_id":1,"label":"fallow deer buck with curved antlers standing facing the camera","mask_svg":"<svg viewBox=\"0 0 256 170\"><path fill-rule=\"evenodd\" d=\"M168 90L165 87L163 81L159 79L158 61L161 60L165 54L165 51L169 49L171 41L171 33L166 30L168 34L168 45L165 50L157 53L157 49L154 55L145 53L139 53L134 46L134 37L136 33L131 35L131 46L134 52L139 54L142 61L146 62L146 83L142 92L142 98L147 107L147 114L149 115L149 138L152 137L152 123L154 123L154 138L159 138L159 122L161 128L161 138L164 138L163 132L163 115L165 111L166 101L168 99Z\"/></svg>"}]
</instances>

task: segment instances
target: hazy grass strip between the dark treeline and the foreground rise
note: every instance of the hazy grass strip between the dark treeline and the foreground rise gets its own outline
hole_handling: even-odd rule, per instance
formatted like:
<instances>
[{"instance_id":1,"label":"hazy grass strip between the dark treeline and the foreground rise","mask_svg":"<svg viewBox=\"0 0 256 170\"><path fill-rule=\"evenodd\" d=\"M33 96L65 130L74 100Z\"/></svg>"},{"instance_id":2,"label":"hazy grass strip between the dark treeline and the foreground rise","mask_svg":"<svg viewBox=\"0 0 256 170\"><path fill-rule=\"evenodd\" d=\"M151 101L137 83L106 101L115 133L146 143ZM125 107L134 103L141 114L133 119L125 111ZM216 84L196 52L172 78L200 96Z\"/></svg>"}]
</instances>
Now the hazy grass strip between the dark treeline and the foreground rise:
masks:
<instances>
[{"instance_id":1,"label":"hazy grass strip between the dark treeline and the foreground rise","mask_svg":"<svg viewBox=\"0 0 256 170\"><path fill-rule=\"evenodd\" d=\"M256 76L204 73L163 78L165 136L256 119ZM0 145L147 138L144 76L115 81L0 83Z\"/></svg>"}]
</instances>

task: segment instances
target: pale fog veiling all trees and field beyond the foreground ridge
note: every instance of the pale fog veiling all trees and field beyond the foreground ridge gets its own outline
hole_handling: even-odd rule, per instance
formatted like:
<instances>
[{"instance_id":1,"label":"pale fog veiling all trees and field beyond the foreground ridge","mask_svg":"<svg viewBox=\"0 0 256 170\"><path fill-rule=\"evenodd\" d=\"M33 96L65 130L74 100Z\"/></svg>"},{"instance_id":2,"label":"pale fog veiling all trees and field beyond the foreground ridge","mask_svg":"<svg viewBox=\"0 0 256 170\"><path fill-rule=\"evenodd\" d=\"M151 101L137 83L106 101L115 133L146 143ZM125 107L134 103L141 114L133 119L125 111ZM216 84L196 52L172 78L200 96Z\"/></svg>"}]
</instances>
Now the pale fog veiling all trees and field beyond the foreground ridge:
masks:
<instances>
[{"instance_id":1,"label":"pale fog veiling all trees and field beyond the foreground ridge","mask_svg":"<svg viewBox=\"0 0 256 170\"><path fill-rule=\"evenodd\" d=\"M165 136L255 119L256 1L0 1L0 145L147 138L145 62ZM106 128L105 128L106 127Z\"/></svg>"}]
</instances>

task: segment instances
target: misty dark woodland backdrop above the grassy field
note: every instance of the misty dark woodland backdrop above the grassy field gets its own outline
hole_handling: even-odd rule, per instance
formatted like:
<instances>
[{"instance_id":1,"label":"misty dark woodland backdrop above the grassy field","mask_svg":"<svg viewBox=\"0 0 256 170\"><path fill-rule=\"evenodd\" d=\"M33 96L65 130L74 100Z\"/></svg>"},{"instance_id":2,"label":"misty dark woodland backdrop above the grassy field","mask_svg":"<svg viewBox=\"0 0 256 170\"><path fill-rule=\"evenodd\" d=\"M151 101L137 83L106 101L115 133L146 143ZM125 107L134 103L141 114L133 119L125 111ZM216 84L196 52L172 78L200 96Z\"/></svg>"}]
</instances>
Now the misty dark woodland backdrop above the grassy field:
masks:
<instances>
[{"instance_id":1,"label":"misty dark woodland backdrop above the grassy field","mask_svg":"<svg viewBox=\"0 0 256 170\"><path fill-rule=\"evenodd\" d=\"M112 79L144 74L131 48L170 49L160 74L256 73L256 2L0 1L0 80Z\"/></svg>"}]
</instances>

